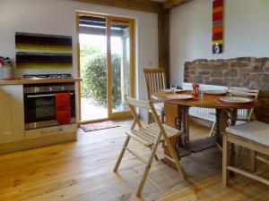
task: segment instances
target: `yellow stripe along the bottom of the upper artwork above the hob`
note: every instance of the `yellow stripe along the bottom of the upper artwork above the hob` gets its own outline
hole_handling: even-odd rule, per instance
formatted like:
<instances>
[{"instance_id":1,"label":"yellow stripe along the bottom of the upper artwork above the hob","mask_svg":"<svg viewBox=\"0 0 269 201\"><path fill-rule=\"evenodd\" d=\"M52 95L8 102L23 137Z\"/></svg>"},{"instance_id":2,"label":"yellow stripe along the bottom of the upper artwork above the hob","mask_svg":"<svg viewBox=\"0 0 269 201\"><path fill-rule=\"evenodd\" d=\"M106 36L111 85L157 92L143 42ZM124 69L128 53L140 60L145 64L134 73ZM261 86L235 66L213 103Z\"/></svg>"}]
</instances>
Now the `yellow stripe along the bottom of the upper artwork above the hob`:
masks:
<instances>
[{"instance_id":1,"label":"yellow stripe along the bottom of the upper artwork above the hob","mask_svg":"<svg viewBox=\"0 0 269 201\"><path fill-rule=\"evenodd\" d=\"M18 44L16 45L17 50L47 50L47 51L61 51L61 52L71 52L71 46L37 46L37 45L26 45Z\"/></svg>"}]
</instances>

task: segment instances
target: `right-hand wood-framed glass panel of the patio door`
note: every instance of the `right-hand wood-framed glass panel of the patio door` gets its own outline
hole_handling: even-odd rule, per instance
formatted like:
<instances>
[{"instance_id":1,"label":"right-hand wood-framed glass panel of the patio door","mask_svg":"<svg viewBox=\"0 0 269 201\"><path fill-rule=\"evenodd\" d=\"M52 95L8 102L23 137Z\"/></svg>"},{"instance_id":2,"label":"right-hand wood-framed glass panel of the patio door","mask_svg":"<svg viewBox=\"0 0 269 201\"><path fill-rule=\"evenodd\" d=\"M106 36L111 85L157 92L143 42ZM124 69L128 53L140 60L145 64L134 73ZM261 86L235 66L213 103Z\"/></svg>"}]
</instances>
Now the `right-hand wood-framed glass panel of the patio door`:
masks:
<instances>
[{"instance_id":1,"label":"right-hand wood-framed glass panel of the patio door","mask_svg":"<svg viewBox=\"0 0 269 201\"><path fill-rule=\"evenodd\" d=\"M125 95L134 96L133 21L108 18L108 116L130 115Z\"/></svg>"}]
</instances>

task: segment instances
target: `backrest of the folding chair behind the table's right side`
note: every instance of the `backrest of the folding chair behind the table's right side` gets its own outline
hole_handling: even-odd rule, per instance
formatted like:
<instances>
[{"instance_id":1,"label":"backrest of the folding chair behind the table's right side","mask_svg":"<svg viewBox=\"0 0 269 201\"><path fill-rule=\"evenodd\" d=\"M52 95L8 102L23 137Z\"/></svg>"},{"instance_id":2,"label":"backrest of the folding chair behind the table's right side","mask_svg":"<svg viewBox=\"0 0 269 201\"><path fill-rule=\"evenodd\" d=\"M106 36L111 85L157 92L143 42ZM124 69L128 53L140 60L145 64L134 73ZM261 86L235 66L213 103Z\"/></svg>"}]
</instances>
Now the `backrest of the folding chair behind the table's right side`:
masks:
<instances>
[{"instance_id":1,"label":"backrest of the folding chair behind the table's right side","mask_svg":"<svg viewBox=\"0 0 269 201\"><path fill-rule=\"evenodd\" d=\"M251 97L254 100L259 96L259 89L250 89L250 88L232 88L232 94L236 96L247 96ZM254 108L247 110L247 120L251 121L254 114Z\"/></svg>"}]
</instances>

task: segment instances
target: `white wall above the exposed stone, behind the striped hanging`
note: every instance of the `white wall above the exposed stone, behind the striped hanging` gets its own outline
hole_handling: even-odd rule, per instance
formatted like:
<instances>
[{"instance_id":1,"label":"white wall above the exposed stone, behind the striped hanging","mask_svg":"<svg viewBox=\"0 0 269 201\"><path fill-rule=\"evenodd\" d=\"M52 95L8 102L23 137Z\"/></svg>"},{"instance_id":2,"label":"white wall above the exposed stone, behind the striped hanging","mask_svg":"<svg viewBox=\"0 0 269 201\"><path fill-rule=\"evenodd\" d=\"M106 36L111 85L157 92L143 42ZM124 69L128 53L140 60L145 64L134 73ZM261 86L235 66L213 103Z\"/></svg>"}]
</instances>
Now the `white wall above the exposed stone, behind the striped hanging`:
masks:
<instances>
[{"instance_id":1,"label":"white wall above the exposed stone, behind the striped hanging","mask_svg":"<svg viewBox=\"0 0 269 201\"><path fill-rule=\"evenodd\" d=\"M184 63L199 58L269 56L269 1L224 1L224 53L212 54L212 0L193 0L170 14L171 80L183 81Z\"/></svg>"}]
</instances>

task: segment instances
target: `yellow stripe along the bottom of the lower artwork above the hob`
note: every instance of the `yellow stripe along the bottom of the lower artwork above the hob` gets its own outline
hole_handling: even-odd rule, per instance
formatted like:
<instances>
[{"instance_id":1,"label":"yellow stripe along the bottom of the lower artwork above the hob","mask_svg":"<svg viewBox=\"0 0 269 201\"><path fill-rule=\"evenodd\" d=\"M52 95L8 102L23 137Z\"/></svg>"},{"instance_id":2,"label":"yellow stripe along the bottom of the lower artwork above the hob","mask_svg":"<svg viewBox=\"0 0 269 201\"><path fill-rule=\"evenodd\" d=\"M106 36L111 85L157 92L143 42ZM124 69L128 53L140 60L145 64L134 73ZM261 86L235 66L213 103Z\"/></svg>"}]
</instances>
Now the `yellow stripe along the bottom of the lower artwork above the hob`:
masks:
<instances>
[{"instance_id":1,"label":"yellow stripe along the bottom of the lower artwork above the hob","mask_svg":"<svg viewBox=\"0 0 269 201\"><path fill-rule=\"evenodd\" d=\"M70 69L73 65L68 63L21 63L17 67L22 69Z\"/></svg>"}]
</instances>

